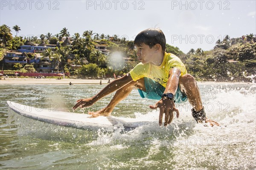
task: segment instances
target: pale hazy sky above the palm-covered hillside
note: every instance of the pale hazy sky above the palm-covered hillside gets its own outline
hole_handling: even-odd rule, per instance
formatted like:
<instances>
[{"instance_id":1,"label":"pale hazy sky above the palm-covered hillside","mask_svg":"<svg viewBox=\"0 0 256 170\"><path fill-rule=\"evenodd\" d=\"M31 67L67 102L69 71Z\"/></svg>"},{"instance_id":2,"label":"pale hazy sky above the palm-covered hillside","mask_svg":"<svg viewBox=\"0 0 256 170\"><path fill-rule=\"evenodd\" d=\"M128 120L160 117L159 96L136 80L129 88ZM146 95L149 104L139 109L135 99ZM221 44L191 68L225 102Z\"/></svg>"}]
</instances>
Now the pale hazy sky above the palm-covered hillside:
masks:
<instances>
[{"instance_id":1,"label":"pale hazy sky above the palm-covered hillside","mask_svg":"<svg viewBox=\"0 0 256 170\"><path fill-rule=\"evenodd\" d=\"M38 38L66 27L71 36L93 30L134 40L140 31L160 28L169 45L187 53L211 50L225 35L256 34L256 0L0 0L3 24Z\"/></svg>"}]
</instances>

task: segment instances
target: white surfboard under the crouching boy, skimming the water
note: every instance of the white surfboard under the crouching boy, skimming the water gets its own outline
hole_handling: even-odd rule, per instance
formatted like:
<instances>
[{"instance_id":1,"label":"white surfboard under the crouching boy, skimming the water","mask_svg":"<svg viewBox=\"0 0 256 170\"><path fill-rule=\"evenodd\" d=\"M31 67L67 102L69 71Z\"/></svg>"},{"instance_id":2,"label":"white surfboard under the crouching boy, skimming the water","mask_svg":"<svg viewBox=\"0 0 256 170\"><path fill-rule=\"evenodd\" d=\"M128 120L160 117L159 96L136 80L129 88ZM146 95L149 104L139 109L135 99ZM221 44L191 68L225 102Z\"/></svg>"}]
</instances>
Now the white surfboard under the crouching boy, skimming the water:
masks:
<instances>
[{"instance_id":1,"label":"white surfboard under the crouching boy, skimming the water","mask_svg":"<svg viewBox=\"0 0 256 170\"><path fill-rule=\"evenodd\" d=\"M27 105L7 101L9 108L21 116L35 119L41 122L47 122L54 125L74 127L86 130L98 130L102 127L123 126L125 130L133 130L142 125L152 124L154 121L138 121L133 118L99 116L92 118L89 114L70 113L63 111L49 111L47 109L38 109Z\"/></svg>"}]
</instances>

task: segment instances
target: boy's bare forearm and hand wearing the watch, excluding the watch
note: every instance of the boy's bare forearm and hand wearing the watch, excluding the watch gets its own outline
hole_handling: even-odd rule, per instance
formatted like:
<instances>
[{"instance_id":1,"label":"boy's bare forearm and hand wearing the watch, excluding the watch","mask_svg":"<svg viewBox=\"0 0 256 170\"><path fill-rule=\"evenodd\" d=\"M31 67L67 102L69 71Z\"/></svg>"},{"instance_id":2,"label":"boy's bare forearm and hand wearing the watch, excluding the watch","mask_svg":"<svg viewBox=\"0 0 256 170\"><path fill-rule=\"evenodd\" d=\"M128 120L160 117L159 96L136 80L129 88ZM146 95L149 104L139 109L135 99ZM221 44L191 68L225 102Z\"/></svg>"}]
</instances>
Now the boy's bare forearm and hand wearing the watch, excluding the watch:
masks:
<instances>
[{"instance_id":1,"label":"boy's bare forearm and hand wearing the watch, excluding the watch","mask_svg":"<svg viewBox=\"0 0 256 170\"><path fill-rule=\"evenodd\" d=\"M180 78L180 69L178 68L172 68L169 71L169 79L166 83L166 89L164 91L165 93L172 93L175 94L178 88L179 84L179 78ZM165 114L165 121L164 126L167 126L167 124L170 124L173 119L173 112L175 111L177 114L177 117L179 117L179 110L175 108L174 100L170 100L166 97L163 97L160 99L155 105L149 106L151 109L160 109L159 113L159 125L162 125L163 120L163 114Z\"/></svg>"}]
</instances>

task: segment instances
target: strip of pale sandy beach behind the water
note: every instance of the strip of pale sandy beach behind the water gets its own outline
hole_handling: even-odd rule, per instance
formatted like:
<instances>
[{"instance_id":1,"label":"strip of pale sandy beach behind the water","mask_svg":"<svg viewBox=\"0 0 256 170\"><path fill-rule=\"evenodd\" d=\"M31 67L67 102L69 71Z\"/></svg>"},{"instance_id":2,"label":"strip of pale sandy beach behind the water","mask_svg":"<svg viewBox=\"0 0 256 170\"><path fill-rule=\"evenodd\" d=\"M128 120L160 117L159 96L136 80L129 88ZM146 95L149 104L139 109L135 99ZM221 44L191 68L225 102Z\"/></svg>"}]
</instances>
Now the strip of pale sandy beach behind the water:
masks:
<instances>
[{"instance_id":1,"label":"strip of pale sandy beach behind the water","mask_svg":"<svg viewBox=\"0 0 256 170\"><path fill-rule=\"evenodd\" d=\"M110 79L113 81L113 79ZM0 79L0 85L68 85L69 83L74 85L79 84L99 84L100 79L35 79L35 78L5 78ZM102 79L102 84L108 84L108 79ZM218 85L218 84L251 84L251 82L198 82L198 84L205 85Z\"/></svg>"}]
</instances>

